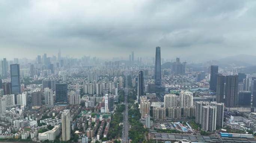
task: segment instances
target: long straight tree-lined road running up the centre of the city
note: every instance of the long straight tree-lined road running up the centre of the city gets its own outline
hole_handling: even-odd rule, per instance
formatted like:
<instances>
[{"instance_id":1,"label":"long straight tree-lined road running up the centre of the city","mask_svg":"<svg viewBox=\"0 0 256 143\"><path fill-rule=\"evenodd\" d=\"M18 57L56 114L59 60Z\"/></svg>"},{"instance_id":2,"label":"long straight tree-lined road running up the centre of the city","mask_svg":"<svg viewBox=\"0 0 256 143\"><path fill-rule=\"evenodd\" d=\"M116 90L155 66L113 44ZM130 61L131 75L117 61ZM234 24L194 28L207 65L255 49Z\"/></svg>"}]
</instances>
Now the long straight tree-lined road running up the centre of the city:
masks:
<instances>
[{"instance_id":1,"label":"long straight tree-lined road running up the centre of the city","mask_svg":"<svg viewBox=\"0 0 256 143\"><path fill-rule=\"evenodd\" d=\"M125 111L124 111L124 121L123 121L123 130L122 130L122 143L129 143L128 139L128 132L129 132L129 122L128 122L128 103L127 103L127 96L128 96L128 80L127 76L125 78Z\"/></svg>"}]
</instances>

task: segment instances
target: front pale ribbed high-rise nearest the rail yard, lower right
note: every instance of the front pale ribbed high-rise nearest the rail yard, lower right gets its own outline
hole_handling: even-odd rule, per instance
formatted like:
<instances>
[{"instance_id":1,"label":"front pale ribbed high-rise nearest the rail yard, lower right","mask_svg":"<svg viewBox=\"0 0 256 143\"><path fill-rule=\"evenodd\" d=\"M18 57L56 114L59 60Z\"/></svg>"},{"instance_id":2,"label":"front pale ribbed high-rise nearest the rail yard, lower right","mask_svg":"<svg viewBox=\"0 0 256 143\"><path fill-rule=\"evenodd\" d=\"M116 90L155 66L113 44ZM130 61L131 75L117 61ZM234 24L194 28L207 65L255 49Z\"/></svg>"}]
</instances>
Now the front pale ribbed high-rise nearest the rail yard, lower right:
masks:
<instances>
[{"instance_id":1,"label":"front pale ribbed high-rise nearest the rail yard, lower right","mask_svg":"<svg viewBox=\"0 0 256 143\"><path fill-rule=\"evenodd\" d=\"M216 106L202 107L202 130L215 131L216 130Z\"/></svg>"}]
</instances>

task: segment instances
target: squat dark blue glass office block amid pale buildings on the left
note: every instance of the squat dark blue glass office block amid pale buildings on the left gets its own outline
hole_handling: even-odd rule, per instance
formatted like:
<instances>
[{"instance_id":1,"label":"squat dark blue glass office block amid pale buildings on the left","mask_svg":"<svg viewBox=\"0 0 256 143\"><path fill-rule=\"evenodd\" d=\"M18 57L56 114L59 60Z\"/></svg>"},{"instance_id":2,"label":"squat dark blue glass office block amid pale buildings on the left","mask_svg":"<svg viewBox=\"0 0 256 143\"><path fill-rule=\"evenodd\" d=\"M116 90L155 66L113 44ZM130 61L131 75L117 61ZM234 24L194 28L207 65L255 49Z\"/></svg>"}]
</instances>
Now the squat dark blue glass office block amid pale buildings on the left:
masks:
<instances>
[{"instance_id":1,"label":"squat dark blue glass office block amid pale buildings on the left","mask_svg":"<svg viewBox=\"0 0 256 143\"><path fill-rule=\"evenodd\" d=\"M67 103L68 101L68 96L67 96L67 84L66 83L56 83L56 102L65 102Z\"/></svg>"}]
</instances>

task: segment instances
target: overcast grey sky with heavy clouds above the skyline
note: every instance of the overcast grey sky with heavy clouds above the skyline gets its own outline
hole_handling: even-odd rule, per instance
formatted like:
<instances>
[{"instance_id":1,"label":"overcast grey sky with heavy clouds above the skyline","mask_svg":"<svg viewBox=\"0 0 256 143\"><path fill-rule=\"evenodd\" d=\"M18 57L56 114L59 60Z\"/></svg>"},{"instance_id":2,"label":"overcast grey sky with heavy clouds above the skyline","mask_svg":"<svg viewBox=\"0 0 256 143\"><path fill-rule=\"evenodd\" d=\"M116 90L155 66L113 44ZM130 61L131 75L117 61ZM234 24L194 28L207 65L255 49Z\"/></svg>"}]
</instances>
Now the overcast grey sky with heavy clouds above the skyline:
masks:
<instances>
[{"instance_id":1,"label":"overcast grey sky with heavy clouds above the skyline","mask_svg":"<svg viewBox=\"0 0 256 143\"><path fill-rule=\"evenodd\" d=\"M0 57L256 55L255 0L0 0Z\"/></svg>"}]
</instances>

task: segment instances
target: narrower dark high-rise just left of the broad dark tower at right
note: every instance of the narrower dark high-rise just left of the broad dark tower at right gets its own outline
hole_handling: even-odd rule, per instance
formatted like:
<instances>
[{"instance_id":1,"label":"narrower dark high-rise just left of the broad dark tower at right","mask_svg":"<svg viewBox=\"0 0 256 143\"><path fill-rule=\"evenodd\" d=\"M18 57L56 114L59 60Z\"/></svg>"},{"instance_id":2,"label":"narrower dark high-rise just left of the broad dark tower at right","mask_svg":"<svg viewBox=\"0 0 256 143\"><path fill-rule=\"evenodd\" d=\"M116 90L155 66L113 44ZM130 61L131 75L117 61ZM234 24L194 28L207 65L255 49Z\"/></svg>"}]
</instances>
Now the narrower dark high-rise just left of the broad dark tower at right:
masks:
<instances>
[{"instance_id":1,"label":"narrower dark high-rise just left of the broad dark tower at right","mask_svg":"<svg viewBox=\"0 0 256 143\"><path fill-rule=\"evenodd\" d=\"M225 76L217 75L216 101L218 103L225 103Z\"/></svg>"}]
</instances>

